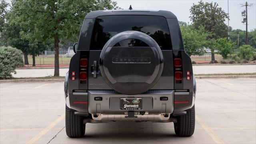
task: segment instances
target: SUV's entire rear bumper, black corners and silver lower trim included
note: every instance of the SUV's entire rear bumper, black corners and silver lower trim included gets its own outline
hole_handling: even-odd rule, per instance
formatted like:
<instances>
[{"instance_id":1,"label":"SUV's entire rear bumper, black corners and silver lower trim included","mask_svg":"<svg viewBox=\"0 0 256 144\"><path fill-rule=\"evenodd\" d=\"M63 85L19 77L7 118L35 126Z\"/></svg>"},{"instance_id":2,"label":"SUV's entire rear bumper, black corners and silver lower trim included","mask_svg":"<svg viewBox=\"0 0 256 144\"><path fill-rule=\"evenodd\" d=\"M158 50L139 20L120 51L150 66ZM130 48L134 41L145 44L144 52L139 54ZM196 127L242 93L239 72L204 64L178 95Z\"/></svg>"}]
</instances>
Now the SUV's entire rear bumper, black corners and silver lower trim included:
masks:
<instances>
[{"instance_id":1,"label":"SUV's entire rear bumper, black corners and silver lower trim included","mask_svg":"<svg viewBox=\"0 0 256 144\"><path fill-rule=\"evenodd\" d=\"M121 110L120 98L142 98L141 110ZM168 100L160 100L161 97ZM96 99L96 98L100 98ZM75 91L66 95L66 105L76 114L92 116L93 120L163 121L172 115L186 114L194 105L195 94L187 90L149 90L144 94L125 95L114 90ZM185 102L185 103L182 103ZM127 112L134 118L127 118Z\"/></svg>"}]
</instances>

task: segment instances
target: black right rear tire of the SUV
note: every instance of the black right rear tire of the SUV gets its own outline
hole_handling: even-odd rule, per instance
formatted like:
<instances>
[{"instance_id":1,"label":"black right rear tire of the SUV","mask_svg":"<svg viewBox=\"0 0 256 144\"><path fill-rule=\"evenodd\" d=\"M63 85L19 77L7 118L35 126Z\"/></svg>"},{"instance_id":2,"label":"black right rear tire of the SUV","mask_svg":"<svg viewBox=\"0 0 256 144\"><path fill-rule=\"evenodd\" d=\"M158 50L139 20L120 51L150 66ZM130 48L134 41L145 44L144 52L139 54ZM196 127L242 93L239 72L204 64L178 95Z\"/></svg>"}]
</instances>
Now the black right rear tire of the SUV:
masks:
<instances>
[{"instance_id":1,"label":"black right rear tire of the SUV","mask_svg":"<svg viewBox=\"0 0 256 144\"><path fill-rule=\"evenodd\" d=\"M192 136L195 130L195 106L186 110L187 114L176 116L177 122L174 123L174 130L177 136Z\"/></svg>"}]
</instances>

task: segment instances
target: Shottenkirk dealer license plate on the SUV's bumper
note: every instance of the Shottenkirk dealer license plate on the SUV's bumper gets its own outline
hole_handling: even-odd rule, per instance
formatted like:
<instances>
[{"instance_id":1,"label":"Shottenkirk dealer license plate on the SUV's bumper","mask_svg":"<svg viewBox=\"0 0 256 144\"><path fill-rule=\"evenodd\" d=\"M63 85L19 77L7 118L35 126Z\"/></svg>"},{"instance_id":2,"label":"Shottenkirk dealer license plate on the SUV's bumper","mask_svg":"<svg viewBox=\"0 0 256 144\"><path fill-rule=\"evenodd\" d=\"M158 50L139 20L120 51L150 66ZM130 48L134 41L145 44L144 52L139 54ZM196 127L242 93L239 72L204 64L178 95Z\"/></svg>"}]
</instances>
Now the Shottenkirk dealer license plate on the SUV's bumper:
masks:
<instances>
[{"instance_id":1,"label":"Shottenkirk dealer license plate on the SUV's bumper","mask_svg":"<svg viewBox=\"0 0 256 144\"><path fill-rule=\"evenodd\" d=\"M121 110L142 110L142 98L120 98Z\"/></svg>"}]
</instances>

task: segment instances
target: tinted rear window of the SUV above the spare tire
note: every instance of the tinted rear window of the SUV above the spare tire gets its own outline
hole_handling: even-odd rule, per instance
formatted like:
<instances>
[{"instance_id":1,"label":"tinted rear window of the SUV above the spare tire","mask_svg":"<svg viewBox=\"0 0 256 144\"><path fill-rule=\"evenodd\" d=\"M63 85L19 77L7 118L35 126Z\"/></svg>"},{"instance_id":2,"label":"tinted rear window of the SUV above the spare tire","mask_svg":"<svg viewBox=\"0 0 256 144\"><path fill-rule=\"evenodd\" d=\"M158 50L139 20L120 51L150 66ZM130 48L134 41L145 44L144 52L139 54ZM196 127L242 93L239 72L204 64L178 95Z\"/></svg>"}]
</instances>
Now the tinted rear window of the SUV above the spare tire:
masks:
<instances>
[{"instance_id":1,"label":"tinted rear window of the SUV above the spare tire","mask_svg":"<svg viewBox=\"0 0 256 144\"><path fill-rule=\"evenodd\" d=\"M172 50L166 18L162 16L99 16L95 20L90 50L102 50L114 35L127 30L144 32L151 36L162 50Z\"/></svg>"}]
</instances>

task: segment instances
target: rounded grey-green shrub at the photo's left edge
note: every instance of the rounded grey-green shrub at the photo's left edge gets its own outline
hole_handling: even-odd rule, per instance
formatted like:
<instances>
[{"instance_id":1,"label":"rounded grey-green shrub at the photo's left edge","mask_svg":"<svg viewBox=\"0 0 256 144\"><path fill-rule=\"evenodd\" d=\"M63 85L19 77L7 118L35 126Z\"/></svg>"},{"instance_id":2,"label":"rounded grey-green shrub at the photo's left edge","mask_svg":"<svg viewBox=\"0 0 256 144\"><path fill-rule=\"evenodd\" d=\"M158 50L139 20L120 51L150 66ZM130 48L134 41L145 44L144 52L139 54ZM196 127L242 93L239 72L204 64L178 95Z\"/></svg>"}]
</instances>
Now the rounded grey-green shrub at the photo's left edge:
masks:
<instances>
[{"instance_id":1,"label":"rounded grey-green shrub at the photo's left edge","mask_svg":"<svg viewBox=\"0 0 256 144\"><path fill-rule=\"evenodd\" d=\"M11 77L15 68L23 66L22 52L12 47L0 47L0 78Z\"/></svg>"}]
</instances>

